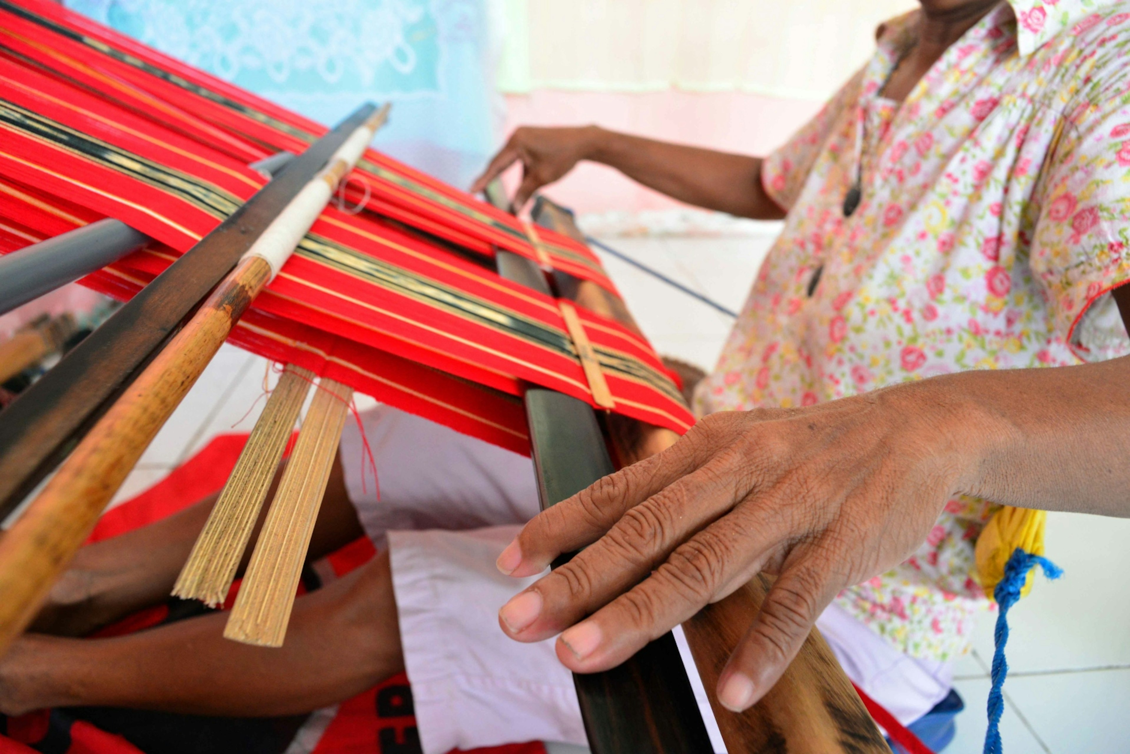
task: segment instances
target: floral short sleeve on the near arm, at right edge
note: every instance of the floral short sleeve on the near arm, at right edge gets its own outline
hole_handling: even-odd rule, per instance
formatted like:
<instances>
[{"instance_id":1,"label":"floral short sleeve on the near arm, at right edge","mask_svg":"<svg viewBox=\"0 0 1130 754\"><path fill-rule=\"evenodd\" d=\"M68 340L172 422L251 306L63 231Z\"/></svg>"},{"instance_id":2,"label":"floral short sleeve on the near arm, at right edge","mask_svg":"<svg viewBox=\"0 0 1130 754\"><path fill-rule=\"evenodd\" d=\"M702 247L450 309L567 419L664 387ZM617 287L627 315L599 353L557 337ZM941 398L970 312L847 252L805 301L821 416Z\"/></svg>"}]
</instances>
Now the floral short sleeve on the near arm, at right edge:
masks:
<instances>
[{"instance_id":1,"label":"floral short sleeve on the near arm, at right edge","mask_svg":"<svg viewBox=\"0 0 1130 754\"><path fill-rule=\"evenodd\" d=\"M1052 326L1084 361L1130 353L1111 289L1130 281L1130 97L1072 111L1043 171L1032 271Z\"/></svg>"}]
</instances>

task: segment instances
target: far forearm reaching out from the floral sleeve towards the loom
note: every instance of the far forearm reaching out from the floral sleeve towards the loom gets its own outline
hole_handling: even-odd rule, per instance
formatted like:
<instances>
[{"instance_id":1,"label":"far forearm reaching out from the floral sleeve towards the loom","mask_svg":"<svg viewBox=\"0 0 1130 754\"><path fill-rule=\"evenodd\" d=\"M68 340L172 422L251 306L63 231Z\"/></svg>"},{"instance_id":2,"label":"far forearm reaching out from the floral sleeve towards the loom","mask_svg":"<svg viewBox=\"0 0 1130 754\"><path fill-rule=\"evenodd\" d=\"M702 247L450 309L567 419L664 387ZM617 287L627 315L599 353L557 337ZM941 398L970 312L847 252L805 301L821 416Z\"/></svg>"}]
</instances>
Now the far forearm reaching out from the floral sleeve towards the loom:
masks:
<instances>
[{"instance_id":1,"label":"far forearm reaching out from the floral sleeve towards the loom","mask_svg":"<svg viewBox=\"0 0 1130 754\"><path fill-rule=\"evenodd\" d=\"M762 185L762 161L591 127L588 158L688 205L754 219L784 213Z\"/></svg>"}]
</instances>

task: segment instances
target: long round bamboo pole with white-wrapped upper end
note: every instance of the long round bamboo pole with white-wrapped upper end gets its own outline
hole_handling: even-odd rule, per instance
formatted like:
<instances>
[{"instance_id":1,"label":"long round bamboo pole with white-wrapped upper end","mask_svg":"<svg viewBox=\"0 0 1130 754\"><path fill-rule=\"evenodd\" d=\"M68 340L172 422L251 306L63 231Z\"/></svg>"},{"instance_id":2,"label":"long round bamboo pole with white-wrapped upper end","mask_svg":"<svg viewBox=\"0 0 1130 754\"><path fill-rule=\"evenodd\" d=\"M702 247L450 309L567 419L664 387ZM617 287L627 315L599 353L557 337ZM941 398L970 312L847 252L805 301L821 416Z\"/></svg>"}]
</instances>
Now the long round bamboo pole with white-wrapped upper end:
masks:
<instances>
[{"instance_id":1,"label":"long round bamboo pole with white-wrapped upper end","mask_svg":"<svg viewBox=\"0 0 1130 754\"><path fill-rule=\"evenodd\" d=\"M98 514L203 372L251 301L282 267L384 122L358 127L286 205L0 539L0 655L31 623Z\"/></svg>"}]
</instances>

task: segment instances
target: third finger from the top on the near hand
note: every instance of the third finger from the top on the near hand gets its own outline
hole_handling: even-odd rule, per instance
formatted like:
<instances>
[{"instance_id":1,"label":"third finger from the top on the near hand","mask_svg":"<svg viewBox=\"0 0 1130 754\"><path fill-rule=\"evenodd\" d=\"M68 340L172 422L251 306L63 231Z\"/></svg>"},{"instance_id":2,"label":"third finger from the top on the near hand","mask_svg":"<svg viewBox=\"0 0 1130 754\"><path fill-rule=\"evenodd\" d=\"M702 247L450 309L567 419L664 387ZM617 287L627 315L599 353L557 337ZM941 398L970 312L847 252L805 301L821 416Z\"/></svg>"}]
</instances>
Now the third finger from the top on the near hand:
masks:
<instances>
[{"instance_id":1,"label":"third finger from the top on the near hand","mask_svg":"<svg viewBox=\"0 0 1130 754\"><path fill-rule=\"evenodd\" d=\"M576 673L616 667L705 607L730 571L759 569L776 551L779 537L750 547L727 528L699 532L631 591L563 632L556 647L560 661Z\"/></svg>"}]
</instances>

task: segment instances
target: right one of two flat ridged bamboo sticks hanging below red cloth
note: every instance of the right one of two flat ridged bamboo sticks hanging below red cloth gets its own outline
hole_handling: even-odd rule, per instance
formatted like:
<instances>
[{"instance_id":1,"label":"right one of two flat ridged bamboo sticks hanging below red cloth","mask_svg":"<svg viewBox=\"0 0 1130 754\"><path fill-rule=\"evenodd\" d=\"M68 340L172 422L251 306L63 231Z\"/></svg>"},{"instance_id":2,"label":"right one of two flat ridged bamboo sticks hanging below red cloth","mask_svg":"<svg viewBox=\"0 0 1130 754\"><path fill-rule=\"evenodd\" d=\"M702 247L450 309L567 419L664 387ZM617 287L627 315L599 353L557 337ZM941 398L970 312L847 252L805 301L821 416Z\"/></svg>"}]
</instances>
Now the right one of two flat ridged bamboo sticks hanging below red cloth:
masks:
<instances>
[{"instance_id":1,"label":"right one of two flat ridged bamboo sticks hanging below red cloth","mask_svg":"<svg viewBox=\"0 0 1130 754\"><path fill-rule=\"evenodd\" d=\"M224 635L281 647L353 390L322 379L251 555Z\"/></svg>"}]
</instances>

